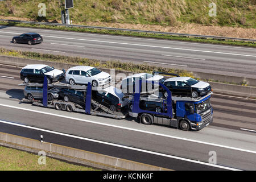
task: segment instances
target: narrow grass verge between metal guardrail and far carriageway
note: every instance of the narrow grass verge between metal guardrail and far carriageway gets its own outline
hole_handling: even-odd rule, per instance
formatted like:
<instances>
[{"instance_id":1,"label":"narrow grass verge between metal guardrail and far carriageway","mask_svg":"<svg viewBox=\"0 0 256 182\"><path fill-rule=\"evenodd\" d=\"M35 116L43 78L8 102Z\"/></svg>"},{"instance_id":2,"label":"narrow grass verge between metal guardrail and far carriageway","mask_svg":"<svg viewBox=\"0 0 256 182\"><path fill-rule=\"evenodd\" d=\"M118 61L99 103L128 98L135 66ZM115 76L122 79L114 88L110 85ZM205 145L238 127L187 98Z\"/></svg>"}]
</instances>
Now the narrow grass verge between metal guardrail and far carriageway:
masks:
<instances>
[{"instance_id":1,"label":"narrow grass verge between metal guardrail and far carriageway","mask_svg":"<svg viewBox=\"0 0 256 182\"><path fill-rule=\"evenodd\" d=\"M206 39L206 38L189 38L185 36L172 36L172 35L149 34L149 33L146 34L142 32L99 30L94 28L80 28L80 27L48 26L48 25L42 25L42 24L27 24L27 23L15 23L15 22L0 22L0 25L31 27L31 28L46 28L51 30L63 30L63 31L75 31L75 32L90 32L90 33L108 34L108 35L135 36L135 37L142 37L142 38L180 40L180 41L187 41L187 42L224 44L224 45L231 45L231 46L256 47L256 44L254 42L241 42L241 41L233 41L233 40Z\"/></svg>"}]
</instances>

